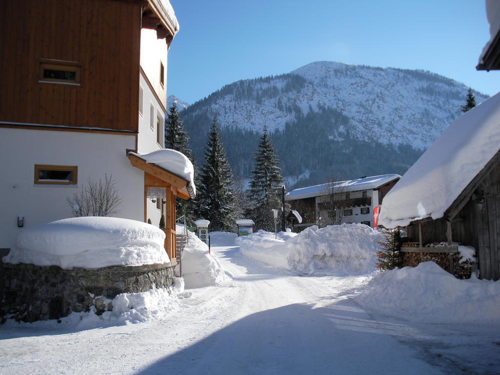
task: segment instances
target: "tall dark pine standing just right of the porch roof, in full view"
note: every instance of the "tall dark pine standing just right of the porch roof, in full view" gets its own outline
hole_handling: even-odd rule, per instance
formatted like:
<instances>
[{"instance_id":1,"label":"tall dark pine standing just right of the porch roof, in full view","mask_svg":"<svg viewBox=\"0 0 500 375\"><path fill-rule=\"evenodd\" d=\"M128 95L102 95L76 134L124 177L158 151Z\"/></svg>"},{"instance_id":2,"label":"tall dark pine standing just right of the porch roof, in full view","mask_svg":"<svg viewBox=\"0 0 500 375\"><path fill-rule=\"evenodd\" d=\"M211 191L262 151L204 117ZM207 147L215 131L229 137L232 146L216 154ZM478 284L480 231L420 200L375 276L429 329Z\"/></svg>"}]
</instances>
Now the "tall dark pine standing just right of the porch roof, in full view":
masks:
<instances>
[{"instance_id":1,"label":"tall dark pine standing just right of the porch roof, in full view","mask_svg":"<svg viewBox=\"0 0 500 375\"><path fill-rule=\"evenodd\" d=\"M204 152L197 195L199 218L210 220L211 230L234 227L232 172L219 137L217 119L213 118Z\"/></svg>"}]
</instances>

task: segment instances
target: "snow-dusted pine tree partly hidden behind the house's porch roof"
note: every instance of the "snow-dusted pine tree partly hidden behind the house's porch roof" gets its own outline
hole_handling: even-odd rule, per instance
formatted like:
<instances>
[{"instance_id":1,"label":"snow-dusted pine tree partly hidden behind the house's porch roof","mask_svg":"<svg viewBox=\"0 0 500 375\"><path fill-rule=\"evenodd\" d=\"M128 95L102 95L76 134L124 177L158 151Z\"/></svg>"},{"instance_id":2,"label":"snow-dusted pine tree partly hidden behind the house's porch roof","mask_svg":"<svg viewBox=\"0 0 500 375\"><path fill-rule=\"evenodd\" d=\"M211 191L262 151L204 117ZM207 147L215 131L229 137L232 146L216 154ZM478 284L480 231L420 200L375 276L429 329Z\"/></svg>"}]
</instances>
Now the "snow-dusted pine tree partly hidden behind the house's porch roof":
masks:
<instances>
[{"instance_id":1,"label":"snow-dusted pine tree partly hidden behind the house's porch roof","mask_svg":"<svg viewBox=\"0 0 500 375\"><path fill-rule=\"evenodd\" d=\"M165 118L165 148L171 148L182 152L191 161L194 167L194 185L197 186L199 183L199 169L196 165L196 160L194 159L192 151L189 149L188 142L189 138L184 131L180 114L177 111L177 106L172 104L172 106L168 108L168 113ZM196 198L189 198L186 200L179 197L175 198L177 217L185 215L188 225L192 225L195 219L195 199Z\"/></svg>"}]
</instances>

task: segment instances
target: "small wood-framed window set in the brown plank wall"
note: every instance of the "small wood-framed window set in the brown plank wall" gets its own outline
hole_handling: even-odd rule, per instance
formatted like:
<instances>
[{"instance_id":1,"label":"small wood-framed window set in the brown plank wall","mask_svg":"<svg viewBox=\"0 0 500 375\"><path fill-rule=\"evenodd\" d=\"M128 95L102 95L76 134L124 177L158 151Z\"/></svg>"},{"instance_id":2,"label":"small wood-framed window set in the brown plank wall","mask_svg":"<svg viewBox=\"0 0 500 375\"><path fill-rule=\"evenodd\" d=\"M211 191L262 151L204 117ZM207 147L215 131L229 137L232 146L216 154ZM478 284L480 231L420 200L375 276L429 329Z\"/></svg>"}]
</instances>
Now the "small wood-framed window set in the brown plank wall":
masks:
<instances>
[{"instance_id":1,"label":"small wood-framed window set in the brown plank wall","mask_svg":"<svg viewBox=\"0 0 500 375\"><path fill-rule=\"evenodd\" d=\"M75 61L41 59L38 82L80 84L81 64Z\"/></svg>"}]
</instances>

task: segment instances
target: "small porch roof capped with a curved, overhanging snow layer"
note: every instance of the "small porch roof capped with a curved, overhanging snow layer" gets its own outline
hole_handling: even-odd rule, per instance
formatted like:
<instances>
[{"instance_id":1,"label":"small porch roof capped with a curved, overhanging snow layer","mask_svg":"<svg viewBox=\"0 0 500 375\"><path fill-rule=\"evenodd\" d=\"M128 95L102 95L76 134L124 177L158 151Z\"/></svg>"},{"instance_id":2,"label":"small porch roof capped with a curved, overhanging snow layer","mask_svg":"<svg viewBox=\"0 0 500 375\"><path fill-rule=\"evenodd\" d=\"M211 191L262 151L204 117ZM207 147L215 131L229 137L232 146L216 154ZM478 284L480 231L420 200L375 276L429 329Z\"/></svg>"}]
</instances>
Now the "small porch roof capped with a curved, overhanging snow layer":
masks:
<instances>
[{"instance_id":1,"label":"small porch roof capped with a curved, overhanging snow layer","mask_svg":"<svg viewBox=\"0 0 500 375\"><path fill-rule=\"evenodd\" d=\"M145 162L160 168L160 170L167 171L176 177L180 177L183 181L176 180L175 178L168 178L167 182L174 184L178 188L186 188L188 193L186 199L187 197L194 198L196 195L196 186L194 185L194 168L191 161L183 153L169 148L162 148L143 154L128 152L127 155L132 165L142 170L145 169ZM132 160L131 157L135 158L135 160ZM140 160L142 160L142 163ZM151 165L149 165L149 167ZM145 171L147 172L147 170ZM157 174L155 175L158 176Z\"/></svg>"}]
</instances>

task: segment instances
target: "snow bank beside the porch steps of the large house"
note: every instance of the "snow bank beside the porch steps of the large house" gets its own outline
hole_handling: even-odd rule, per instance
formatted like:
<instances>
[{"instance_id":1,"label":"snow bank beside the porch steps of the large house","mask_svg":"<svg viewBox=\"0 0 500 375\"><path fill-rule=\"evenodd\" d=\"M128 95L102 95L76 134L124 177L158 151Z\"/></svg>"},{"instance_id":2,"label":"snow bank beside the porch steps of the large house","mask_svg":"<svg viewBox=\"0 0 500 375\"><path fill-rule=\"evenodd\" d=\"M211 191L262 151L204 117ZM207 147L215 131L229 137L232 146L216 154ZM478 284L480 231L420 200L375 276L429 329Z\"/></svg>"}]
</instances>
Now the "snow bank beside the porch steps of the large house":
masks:
<instances>
[{"instance_id":1,"label":"snow bank beside the porch steps of the large house","mask_svg":"<svg viewBox=\"0 0 500 375\"><path fill-rule=\"evenodd\" d=\"M177 225L177 233L183 233L183 225ZM182 277L189 288L208 285L229 285L231 279L220 266L216 255L208 253L208 246L194 233L188 231L188 244L182 252Z\"/></svg>"}]
</instances>

